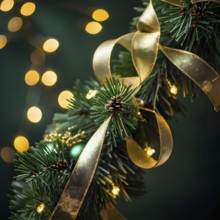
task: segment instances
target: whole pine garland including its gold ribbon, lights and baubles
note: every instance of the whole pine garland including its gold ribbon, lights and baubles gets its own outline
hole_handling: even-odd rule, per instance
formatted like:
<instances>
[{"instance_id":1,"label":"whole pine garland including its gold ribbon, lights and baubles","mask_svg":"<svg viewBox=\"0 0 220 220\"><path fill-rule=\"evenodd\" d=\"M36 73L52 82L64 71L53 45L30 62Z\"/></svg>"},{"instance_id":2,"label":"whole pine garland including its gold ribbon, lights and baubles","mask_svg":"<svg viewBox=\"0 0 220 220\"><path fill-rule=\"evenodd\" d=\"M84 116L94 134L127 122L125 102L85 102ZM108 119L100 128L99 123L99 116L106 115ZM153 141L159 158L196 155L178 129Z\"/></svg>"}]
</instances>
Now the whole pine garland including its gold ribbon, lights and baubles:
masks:
<instances>
[{"instance_id":1,"label":"whole pine garland including its gold ribbon, lights and baubles","mask_svg":"<svg viewBox=\"0 0 220 220\"><path fill-rule=\"evenodd\" d=\"M220 51L212 50L220 48L219 1L164 2L144 2L135 31L97 48L98 81L76 82L68 112L55 114L44 140L18 153L10 219L125 219L117 202L142 195L143 168L172 152L166 119L182 111L177 88L193 97L197 84L219 110ZM119 54L112 74L117 43L129 52Z\"/></svg>"}]
</instances>

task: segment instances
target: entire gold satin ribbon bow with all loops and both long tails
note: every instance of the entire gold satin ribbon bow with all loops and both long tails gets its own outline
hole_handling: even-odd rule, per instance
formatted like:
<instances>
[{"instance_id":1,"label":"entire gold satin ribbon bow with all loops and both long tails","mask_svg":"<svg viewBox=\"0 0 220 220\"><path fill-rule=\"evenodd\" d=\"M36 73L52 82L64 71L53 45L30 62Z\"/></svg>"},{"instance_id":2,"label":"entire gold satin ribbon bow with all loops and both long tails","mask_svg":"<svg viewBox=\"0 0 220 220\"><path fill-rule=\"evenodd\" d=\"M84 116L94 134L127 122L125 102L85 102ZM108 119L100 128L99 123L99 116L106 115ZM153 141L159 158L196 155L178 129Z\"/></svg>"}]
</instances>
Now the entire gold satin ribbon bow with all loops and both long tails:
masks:
<instances>
[{"instance_id":1,"label":"entire gold satin ribbon bow with all loops and both long tails","mask_svg":"<svg viewBox=\"0 0 220 220\"><path fill-rule=\"evenodd\" d=\"M180 0L163 1L179 7L183 6ZM205 0L192 0L192 3L201 1ZM220 0L211 1L220 2ZM160 49L177 68L191 78L206 93L216 111L219 110L220 77L218 73L197 55L183 50L164 47L160 45L159 41L160 24L154 11L152 0L150 0L138 21L136 32L123 35L115 40L106 41L97 48L93 58L93 67L97 79L104 83L106 78L111 77L111 53L118 43L131 52L132 61L138 73L138 76L120 79L138 89L150 75ZM143 148L132 138L127 138L126 144L130 159L137 166L148 169L162 165L168 160L172 152L173 139L169 125L160 114L150 109L141 110L153 114L156 119L160 140L159 158L155 160L152 157L147 157ZM50 217L51 220L76 219L94 177L109 123L110 118L99 127L84 148L65 186L60 201ZM87 163L90 165L87 166ZM112 210L114 215L111 214ZM114 207L109 207L101 213L103 219L115 219L115 214ZM117 212L117 219L122 220L125 218Z\"/></svg>"}]
</instances>

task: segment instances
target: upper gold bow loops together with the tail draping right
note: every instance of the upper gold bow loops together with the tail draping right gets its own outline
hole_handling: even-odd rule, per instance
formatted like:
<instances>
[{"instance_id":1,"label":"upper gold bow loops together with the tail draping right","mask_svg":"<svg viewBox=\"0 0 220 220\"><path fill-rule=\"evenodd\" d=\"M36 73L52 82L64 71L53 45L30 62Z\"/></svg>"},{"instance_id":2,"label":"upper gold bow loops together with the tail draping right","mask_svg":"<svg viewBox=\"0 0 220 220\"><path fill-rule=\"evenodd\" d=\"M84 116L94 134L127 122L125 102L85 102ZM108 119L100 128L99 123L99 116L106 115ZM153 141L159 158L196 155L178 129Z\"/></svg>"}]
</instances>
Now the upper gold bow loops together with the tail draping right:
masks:
<instances>
[{"instance_id":1,"label":"upper gold bow loops together with the tail draping right","mask_svg":"<svg viewBox=\"0 0 220 220\"><path fill-rule=\"evenodd\" d=\"M183 4L180 0L163 1L177 6ZM123 77L123 79L133 87L140 87L141 83L148 78L160 49L178 69L201 88L211 100L215 110L218 111L220 109L219 74L206 61L193 53L163 47L159 44L159 38L160 24L152 0L150 0L137 23L135 33L126 34L116 40L106 41L97 48L93 58L93 67L98 80L103 83L106 77L111 77L110 58L116 43L121 44L131 52L138 76Z\"/></svg>"}]
</instances>

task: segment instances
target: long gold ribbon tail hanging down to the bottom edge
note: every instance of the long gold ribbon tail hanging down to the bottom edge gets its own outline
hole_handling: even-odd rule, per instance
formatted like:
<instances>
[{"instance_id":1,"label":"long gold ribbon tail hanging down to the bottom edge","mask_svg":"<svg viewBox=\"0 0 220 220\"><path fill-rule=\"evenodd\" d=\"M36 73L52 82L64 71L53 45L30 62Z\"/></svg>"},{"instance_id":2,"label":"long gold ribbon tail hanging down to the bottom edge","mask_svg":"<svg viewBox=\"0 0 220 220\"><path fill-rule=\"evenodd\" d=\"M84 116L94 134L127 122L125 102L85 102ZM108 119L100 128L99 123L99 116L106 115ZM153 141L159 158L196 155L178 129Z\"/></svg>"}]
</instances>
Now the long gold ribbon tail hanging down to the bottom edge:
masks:
<instances>
[{"instance_id":1,"label":"long gold ribbon tail hanging down to the bottom edge","mask_svg":"<svg viewBox=\"0 0 220 220\"><path fill-rule=\"evenodd\" d=\"M94 177L110 119L103 122L86 144L50 220L74 220L77 218Z\"/></svg>"}]
</instances>

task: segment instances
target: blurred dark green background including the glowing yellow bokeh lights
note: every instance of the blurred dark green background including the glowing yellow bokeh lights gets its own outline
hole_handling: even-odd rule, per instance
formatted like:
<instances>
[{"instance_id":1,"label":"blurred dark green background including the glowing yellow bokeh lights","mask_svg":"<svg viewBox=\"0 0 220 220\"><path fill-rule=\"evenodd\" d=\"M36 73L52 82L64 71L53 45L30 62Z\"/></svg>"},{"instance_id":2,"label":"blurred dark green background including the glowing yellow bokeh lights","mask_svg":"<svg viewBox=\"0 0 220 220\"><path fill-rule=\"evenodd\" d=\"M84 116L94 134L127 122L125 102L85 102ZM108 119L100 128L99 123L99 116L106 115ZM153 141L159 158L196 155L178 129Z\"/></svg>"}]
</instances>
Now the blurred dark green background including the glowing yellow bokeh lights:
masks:
<instances>
[{"instance_id":1,"label":"blurred dark green background including the glowing yellow bokeh lights","mask_svg":"<svg viewBox=\"0 0 220 220\"><path fill-rule=\"evenodd\" d=\"M94 77L95 49L129 32L135 6L141 0L0 1L1 220L9 217L15 151L42 139L76 79ZM146 171L145 195L119 206L129 220L220 219L220 113L203 94L183 103L185 116L169 121L170 160Z\"/></svg>"}]
</instances>

